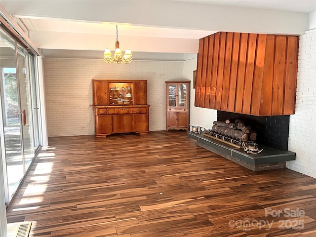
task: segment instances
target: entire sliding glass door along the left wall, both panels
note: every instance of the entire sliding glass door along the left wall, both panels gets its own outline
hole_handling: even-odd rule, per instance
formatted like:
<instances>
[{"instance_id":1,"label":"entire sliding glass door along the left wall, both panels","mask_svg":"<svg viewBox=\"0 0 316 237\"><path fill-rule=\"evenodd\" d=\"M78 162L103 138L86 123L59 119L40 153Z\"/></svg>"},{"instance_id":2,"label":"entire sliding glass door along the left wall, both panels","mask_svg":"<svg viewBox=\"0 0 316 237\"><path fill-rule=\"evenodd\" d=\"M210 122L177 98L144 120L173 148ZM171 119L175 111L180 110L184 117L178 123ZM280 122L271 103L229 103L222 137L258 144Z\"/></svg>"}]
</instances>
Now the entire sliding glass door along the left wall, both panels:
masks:
<instances>
[{"instance_id":1,"label":"entire sliding glass door along the left wall, both panels","mask_svg":"<svg viewBox=\"0 0 316 237\"><path fill-rule=\"evenodd\" d=\"M0 141L8 204L39 148L39 106L34 55L1 28L0 49Z\"/></svg>"}]
</instances>

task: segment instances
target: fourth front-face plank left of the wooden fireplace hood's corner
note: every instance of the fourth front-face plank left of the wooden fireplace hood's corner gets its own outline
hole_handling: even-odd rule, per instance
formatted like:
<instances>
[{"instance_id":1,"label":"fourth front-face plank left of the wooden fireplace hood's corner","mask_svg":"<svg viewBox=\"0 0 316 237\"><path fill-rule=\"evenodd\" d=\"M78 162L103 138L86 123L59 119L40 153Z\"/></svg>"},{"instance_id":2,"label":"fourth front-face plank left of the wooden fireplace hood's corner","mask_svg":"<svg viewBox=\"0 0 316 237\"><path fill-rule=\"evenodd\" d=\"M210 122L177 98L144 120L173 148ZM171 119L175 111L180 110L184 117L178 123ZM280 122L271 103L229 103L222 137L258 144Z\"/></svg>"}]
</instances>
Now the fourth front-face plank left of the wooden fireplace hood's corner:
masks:
<instances>
[{"instance_id":1,"label":"fourth front-face plank left of the wooden fireplace hood's corner","mask_svg":"<svg viewBox=\"0 0 316 237\"><path fill-rule=\"evenodd\" d=\"M236 97L236 85L237 85L237 72L238 72L238 58L239 58L239 44L240 44L240 33L234 33L233 36L233 52L232 52L232 67L231 67L231 80L230 90L228 96L227 111L235 111L235 97Z\"/></svg>"}]
</instances>

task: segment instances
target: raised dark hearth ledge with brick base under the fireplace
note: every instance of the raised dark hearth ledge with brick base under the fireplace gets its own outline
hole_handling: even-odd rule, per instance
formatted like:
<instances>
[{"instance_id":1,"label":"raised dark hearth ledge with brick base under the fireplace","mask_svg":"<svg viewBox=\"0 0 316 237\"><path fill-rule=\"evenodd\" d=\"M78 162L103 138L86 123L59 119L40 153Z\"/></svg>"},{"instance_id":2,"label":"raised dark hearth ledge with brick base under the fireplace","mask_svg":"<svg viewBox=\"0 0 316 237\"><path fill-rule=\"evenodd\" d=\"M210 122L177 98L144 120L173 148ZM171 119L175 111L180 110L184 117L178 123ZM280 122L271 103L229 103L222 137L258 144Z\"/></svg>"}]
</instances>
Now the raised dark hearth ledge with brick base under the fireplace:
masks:
<instances>
[{"instance_id":1,"label":"raised dark hearth ledge with brick base under the fireplace","mask_svg":"<svg viewBox=\"0 0 316 237\"><path fill-rule=\"evenodd\" d=\"M294 152L280 151L260 144L258 146L259 149L263 149L261 153L249 154L242 148L236 148L202 134L188 132L188 136L197 140L198 146L232 160L252 171L283 169L286 166L286 161L295 160Z\"/></svg>"}]
</instances>

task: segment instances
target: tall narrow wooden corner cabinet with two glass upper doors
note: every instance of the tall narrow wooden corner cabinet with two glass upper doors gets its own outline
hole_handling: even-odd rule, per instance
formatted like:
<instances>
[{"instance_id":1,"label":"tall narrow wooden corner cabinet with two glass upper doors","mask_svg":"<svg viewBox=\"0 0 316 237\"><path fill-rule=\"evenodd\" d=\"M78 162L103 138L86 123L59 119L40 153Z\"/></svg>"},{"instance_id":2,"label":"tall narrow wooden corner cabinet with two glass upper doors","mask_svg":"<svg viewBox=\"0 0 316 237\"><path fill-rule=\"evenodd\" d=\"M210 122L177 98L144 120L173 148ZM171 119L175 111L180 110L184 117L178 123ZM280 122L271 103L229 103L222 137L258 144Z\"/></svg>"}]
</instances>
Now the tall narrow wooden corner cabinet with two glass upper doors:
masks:
<instances>
[{"instance_id":1,"label":"tall narrow wooden corner cabinet with two glass upper doors","mask_svg":"<svg viewBox=\"0 0 316 237\"><path fill-rule=\"evenodd\" d=\"M190 81L165 81L166 83L166 130L189 131Z\"/></svg>"}]
</instances>

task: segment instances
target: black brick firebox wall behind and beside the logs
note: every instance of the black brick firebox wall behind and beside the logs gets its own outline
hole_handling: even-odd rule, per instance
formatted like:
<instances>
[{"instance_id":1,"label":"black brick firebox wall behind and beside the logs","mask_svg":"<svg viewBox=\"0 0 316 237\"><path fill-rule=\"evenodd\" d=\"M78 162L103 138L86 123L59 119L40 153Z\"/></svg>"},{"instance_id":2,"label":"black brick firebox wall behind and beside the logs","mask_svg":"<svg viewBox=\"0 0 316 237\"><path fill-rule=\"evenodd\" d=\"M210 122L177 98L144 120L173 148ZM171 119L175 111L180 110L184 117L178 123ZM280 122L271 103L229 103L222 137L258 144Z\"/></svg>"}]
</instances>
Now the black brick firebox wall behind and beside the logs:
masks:
<instances>
[{"instance_id":1,"label":"black brick firebox wall behind and beside the logs","mask_svg":"<svg viewBox=\"0 0 316 237\"><path fill-rule=\"evenodd\" d=\"M287 151L289 115L282 116L251 116L226 111L217 111L217 120L225 121L227 118L240 119L250 125L257 132L256 142L267 147Z\"/></svg>"}]
</instances>

